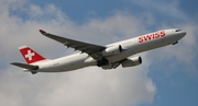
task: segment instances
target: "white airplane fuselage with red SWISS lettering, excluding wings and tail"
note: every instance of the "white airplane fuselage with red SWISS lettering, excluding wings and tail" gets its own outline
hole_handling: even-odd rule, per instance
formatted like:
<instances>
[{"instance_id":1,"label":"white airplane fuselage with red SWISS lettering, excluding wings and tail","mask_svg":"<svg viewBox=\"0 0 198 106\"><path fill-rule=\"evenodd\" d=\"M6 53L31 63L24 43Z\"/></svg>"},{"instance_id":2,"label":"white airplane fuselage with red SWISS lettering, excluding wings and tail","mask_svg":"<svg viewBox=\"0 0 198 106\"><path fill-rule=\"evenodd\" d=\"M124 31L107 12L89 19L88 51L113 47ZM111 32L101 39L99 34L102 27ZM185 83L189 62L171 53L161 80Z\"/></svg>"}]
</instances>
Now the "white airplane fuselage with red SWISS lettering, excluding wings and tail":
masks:
<instances>
[{"instance_id":1,"label":"white airplane fuselage with red SWISS lettering, excluding wings and tail","mask_svg":"<svg viewBox=\"0 0 198 106\"><path fill-rule=\"evenodd\" d=\"M163 30L119 43L110 44L106 47L121 45L123 51L120 54L106 56L106 58L110 62L117 62L132 55L176 43L185 35L186 32L183 31L177 32L177 30ZM33 64L37 64L40 67L40 69L36 70L37 72L63 72L89 66L97 66L97 61L89 55L79 52L54 60L43 60Z\"/></svg>"}]
</instances>

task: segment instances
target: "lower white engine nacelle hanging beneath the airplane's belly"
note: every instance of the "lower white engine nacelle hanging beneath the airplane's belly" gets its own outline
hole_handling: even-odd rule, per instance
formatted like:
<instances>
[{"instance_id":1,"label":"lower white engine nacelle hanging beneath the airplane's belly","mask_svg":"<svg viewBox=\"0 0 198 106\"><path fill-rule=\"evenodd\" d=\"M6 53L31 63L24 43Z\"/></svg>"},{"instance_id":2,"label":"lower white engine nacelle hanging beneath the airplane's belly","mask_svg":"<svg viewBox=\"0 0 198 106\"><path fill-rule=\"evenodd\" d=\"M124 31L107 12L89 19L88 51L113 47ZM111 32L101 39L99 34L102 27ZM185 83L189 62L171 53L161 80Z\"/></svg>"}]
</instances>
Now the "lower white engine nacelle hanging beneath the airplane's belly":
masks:
<instances>
[{"instance_id":1,"label":"lower white engine nacelle hanging beneath the airplane's belly","mask_svg":"<svg viewBox=\"0 0 198 106\"><path fill-rule=\"evenodd\" d=\"M141 57L132 57L132 58L128 58L125 61L122 62L122 67L127 68L127 67L134 67L134 66L139 66L142 63L142 58Z\"/></svg>"}]
</instances>

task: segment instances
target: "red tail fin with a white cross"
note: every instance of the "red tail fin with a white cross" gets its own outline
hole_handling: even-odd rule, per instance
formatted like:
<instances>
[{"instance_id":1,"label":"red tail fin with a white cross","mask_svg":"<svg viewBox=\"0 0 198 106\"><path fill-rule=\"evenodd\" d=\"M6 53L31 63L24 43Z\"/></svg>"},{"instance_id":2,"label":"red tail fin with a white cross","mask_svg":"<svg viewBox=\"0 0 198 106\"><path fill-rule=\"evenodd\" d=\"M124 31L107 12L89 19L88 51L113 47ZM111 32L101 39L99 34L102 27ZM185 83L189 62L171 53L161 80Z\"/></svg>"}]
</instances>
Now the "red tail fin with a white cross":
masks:
<instances>
[{"instance_id":1,"label":"red tail fin with a white cross","mask_svg":"<svg viewBox=\"0 0 198 106\"><path fill-rule=\"evenodd\" d=\"M19 49L20 49L21 55L25 59L26 63L29 64L45 59L43 56L38 55L36 51L34 51L28 46L19 47Z\"/></svg>"}]
</instances>

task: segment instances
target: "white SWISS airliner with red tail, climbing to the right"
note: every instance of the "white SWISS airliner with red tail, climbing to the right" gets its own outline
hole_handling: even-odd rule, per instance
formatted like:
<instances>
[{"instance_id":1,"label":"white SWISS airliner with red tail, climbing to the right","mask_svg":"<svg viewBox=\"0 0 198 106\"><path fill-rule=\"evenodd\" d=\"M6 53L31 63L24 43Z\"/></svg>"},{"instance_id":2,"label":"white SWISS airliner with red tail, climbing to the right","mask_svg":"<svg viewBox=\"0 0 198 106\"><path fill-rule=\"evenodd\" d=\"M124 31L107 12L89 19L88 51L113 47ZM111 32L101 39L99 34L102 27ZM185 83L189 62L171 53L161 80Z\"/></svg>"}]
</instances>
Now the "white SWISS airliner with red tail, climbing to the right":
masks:
<instances>
[{"instance_id":1,"label":"white SWISS airliner with red tail, climbing to the right","mask_svg":"<svg viewBox=\"0 0 198 106\"><path fill-rule=\"evenodd\" d=\"M134 67L142 63L142 58L140 56L132 57L133 55L170 44L175 45L187 34L179 28L169 28L100 46L57 36L43 30L40 30L40 33L80 52L57 59L46 59L32 48L21 46L19 49L26 63L12 62L11 64L23 68L25 72L32 74L73 71L91 66L98 66L106 70L116 69L120 64L122 68Z\"/></svg>"}]
</instances>

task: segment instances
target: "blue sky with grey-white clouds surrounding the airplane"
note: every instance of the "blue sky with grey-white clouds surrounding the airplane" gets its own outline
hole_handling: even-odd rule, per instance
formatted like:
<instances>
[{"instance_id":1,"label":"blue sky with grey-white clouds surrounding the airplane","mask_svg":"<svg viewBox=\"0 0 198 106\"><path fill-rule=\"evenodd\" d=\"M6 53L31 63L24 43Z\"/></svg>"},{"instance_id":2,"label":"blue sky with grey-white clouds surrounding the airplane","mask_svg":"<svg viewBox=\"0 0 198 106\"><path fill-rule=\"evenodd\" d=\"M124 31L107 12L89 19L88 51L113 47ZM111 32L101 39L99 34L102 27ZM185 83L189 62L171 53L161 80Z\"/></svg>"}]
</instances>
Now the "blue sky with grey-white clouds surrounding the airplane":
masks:
<instances>
[{"instance_id":1,"label":"blue sky with grey-white clouds surrounding the airplane","mask_svg":"<svg viewBox=\"0 0 198 106\"><path fill-rule=\"evenodd\" d=\"M0 0L0 104L2 106L197 106L198 1L196 0ZM138 54L138 67L97 67L32 75L28 45L46 58L74 54L38 30L107 45L163 28L182 28L177 45Z\"/></svg>"}]
</instances>

